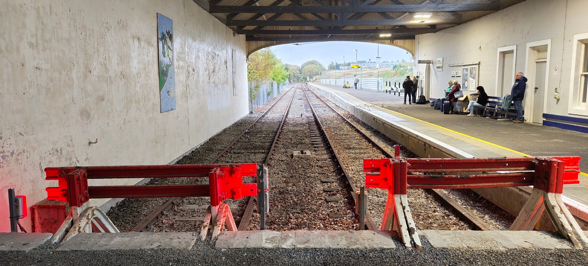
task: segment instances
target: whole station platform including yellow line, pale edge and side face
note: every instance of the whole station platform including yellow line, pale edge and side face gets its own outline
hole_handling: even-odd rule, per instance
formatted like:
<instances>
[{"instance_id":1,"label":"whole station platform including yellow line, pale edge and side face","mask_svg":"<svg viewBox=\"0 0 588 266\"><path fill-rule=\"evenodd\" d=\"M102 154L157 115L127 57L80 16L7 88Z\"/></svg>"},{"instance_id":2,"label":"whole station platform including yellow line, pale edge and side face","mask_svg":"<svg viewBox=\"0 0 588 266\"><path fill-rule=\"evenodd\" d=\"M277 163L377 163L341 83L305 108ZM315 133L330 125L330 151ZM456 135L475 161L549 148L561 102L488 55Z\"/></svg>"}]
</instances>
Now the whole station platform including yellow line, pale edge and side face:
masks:
<instances>
[{"instance_id":1,"label":"whole station platform including yellow line, pale edge and side face","mask_svg":"<svg viewBox=\"0 0 588 266\"><path fill-rule=\"evenodd\" d=\"M317 92L420 157L580 156L588 158L588 134L513 124L485 117L443 115L430 105L403 105L402 96L313 83ZM564 186L564 203L588 224L588 160L580 161L580 184ZM530 189L475 188L478 194L516 216ZM507 196L507 197L505 197ZM584 227L585 228L585 227Z\"/></svg>"}]
</instances>

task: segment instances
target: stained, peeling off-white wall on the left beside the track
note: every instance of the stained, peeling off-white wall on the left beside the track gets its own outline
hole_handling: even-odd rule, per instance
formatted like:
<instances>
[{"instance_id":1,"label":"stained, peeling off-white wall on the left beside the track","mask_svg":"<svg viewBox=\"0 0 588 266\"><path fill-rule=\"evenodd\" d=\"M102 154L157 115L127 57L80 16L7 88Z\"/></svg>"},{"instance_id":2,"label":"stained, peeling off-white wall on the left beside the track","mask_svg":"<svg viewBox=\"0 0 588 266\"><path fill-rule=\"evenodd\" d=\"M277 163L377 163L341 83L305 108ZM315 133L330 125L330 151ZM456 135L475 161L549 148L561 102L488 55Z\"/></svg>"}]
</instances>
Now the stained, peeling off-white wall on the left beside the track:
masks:
<instances>
[{"instance_id":1,"label":"stained, peeling off-white wall on the left beside the track","mask_svg":"<svg viewBox=\"0 0 588 266\"><path fill-rule=\"evenodd\" d=\"M175 35L177 109L166 113L158 12ZM0 231L8 188L30 206L56 186L44 167L167 164L248 113L245 38L192 0L12 0L0 18Z\"/></svg>"}]
</instances>

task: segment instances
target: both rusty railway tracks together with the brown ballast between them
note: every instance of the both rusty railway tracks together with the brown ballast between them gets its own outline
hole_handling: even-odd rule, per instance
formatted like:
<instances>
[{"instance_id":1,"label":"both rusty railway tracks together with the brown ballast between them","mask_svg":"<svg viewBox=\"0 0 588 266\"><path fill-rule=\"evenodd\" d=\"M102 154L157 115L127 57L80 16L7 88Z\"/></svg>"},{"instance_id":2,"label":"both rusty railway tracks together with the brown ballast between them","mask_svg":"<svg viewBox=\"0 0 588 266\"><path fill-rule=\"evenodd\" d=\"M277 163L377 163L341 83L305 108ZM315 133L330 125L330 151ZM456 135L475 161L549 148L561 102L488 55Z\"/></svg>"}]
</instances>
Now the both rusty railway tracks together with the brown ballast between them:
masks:
<instances>
[{"instance_id":1,"label":"both rusty railway tracks together with the brown ballast between them","mask_svg":"<svg viewBox=\"0 0 588 266\"><path fill-rule=\"evenodd\" d=\"M294 105L293 102L295 102ZM290 114L289 117L290 107L292 106L296 106L296 111L294 112L295 114ZM299 114L302 115L303 119L300 119ZM289 122L287 123L287 121ZM295 122L303 123L308 133L305 136L300 135L299 132L295 135L287 134L285 141L278 142L283 130L289 132L304 131L302 127L290 128L292 123ZM269 221L268 229L270 230L356 230L359 228L359 223L355 214L353 214L353 199L355 199L354 191L359 190L359 187L363 186L365 181L362 171L362 159L394 156L393 148L390 149L390 143L387 143L390 140L387 137L382 137L383 135L376 136L379 133L370 131L372 130L363 127L352 116L349 116L349 118L344 116L335 107L316 95L305 83L297 83L288 92L279 96L275 102L265 107L260 112L259 117L249 124L245 130L242 130L209 163L262 163L265 166L270 166L270 213L269 217L266 218L266 223ZM290 153L290 151L298 149L296 142L289 140L295 139L297 136L299 137L299 143L304 142L305 140L303 139L308 141L308 147L313 153L313 160L306 164L288 166L283 156L286 151ZM275 154L278 149L280 149L278 154ZM278 159L270 161L274 157L278 157ZM312 166L311 164L316 165ZM293 170L296 172L298 169L314 171L319 176L315 175L298 180L293 180L295 179L293 177L278 178L276 180L276 175L279 176L281 172L288 175L288 171ZM300 172L290 173L290 176L293 175L300 175ZM254 182L255 180L244 181ZM199 179L198 177L189 180L189 184L207 182L208 179ZM292 189L291 182L300 183L298 188L302 190L305 188L312 189L309 191L288 191ZM365 225L369 230L378 230L382 221L387 193L384 190L370 188L367 191L370 208L368 216L366 216ZM322 197L321 202L316 200L305 201L305 204L309 206L320 205L322 207L313 207L306 210L306 206L302 206L302 201L300 200L300 202L296 202L296 200L290 201L286 197L285 204L282 204L280 201L285 199L275 197L278 194L288 195L289 193L295 196L299 193L301 195L308 193L310 197L312 195L316 197L320 194L319 197ZM429 198L423 198L420 203L430 205L428 204L429 201L439 201L441 203L438 204L440 208L449 208L455 216L467 221L467 223L462 222L463 225L459 226L463 228L469 227L474 230L493 229L483 219L470 213L467 208L461 206L444 191L430 191L429 194L434 194L435 197L429 195ZM415 197L421 196L417 195ZM272 206L272 200L275 199L278 201L273 203ZM327 203L326 205L324 204L325 202ZM238 223L238 230L258 229L258 223L251 224L252 221L259 221L259 215L254 211L256 208L254 197L228 200L226 203L233 210L233 217ZM172 231L192 231L192 228L198 227L194 221L201 220L207 204L208 198L169 198L161 206L145 216L131 231L147 231L154 224L158 225L154 226L156 231L169 230L169 221L173 221L172 224L176 223L171 227ZM292 204L292 206L282 206L282 210L280 210L280 205L287 204ZM444 207L441 207L441 205ZM174 207L172 213L175 213L176 216L169 214L172 207ZM305 210L298 210L297 208ZM428 211L423 210L423 215L427 215ZM418 213L418 211L413 210L413 214L415 212ZM445 215L447 216L447 214ZM315 217L301 218L305 216ZM287 221L280 221L284 220L284 217L289 218L286 218ZM456 220L455 217L452 218ZM165 225L166 222L168 225ZM443 228L442 224L436 229L451 230L455 228L449 226Z\"/></svg>"}]
</instances>

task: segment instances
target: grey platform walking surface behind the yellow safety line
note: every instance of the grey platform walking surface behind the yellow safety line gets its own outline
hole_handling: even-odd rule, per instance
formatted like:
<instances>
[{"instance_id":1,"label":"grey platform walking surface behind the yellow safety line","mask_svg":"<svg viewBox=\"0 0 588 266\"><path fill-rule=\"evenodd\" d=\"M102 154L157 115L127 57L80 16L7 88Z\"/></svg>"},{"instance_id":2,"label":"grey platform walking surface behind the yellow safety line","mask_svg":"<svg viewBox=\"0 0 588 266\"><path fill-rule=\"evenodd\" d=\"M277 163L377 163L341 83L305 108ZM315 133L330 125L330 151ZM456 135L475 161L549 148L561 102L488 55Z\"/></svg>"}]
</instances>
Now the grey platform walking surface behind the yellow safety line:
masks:
<instances>
[{"instance_id":1,"label":"grey platform walking surface behind the yellow safety line","mask_svg":"<svg viewBox=\"0 0 588 266\"><path fill-rule=\"evenodd\" d=\"M443 115L430 105L403 105L404 97L369 90L344 89L326 84L317 85L348 93L366 103L371 103L403 115L424 120L456 132L494 143L531 156L580 156L580 169L588 172L588 134L557 127L542 126L539 123L513 124L486 117L465 115ZM445 89L445 88L443 88ZM588 176L580 182L588 184ZM588 197L588 196L587 196Z\"/></svg>"}]
</instances>

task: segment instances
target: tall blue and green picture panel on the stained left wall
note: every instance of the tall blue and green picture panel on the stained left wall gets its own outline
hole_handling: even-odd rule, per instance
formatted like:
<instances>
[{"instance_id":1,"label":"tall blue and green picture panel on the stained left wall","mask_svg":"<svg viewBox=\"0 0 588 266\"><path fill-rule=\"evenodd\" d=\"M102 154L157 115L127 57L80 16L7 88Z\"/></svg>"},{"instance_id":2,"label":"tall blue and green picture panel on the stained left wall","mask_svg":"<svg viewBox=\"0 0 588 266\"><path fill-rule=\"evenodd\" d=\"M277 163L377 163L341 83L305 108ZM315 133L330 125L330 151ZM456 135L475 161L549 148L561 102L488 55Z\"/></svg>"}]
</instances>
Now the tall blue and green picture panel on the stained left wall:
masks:
<instances>
[{"instance_id":1,"label":"tall blue and green picture panel on the stained left wall","mask_svg":"<svg viewBox=\"0 0 588 266\"><path fill-rule=\"evenodd\" d=\"M161 112L176 109L175 69L173 62L173 22L168 17L157 14L157 38L159 43L159 98Z\"/></svg>"}]
</instances>

